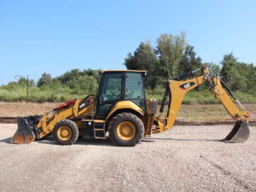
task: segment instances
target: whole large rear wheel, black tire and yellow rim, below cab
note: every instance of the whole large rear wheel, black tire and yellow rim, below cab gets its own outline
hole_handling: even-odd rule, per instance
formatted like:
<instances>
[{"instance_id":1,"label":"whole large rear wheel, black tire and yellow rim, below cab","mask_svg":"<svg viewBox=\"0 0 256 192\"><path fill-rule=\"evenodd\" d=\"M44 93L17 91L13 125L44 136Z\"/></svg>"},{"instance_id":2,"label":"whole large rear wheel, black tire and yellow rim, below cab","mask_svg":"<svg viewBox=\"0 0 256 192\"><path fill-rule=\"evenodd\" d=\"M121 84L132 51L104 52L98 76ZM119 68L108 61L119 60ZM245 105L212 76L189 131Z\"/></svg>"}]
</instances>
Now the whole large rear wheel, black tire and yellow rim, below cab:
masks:
<instances>
[{"instance_id":1,"label":"whole large rear wheel, black tire and yellow rim, below cab","mask_svg":"<svg viewBox=\"0 0 256 192\"><path fill-rule=\"evenodd\" d=\"M108 134L115 145L131 147L142 140L144 125L135 114L121 113L109 123Z\"/></svg>"}]
</instances>

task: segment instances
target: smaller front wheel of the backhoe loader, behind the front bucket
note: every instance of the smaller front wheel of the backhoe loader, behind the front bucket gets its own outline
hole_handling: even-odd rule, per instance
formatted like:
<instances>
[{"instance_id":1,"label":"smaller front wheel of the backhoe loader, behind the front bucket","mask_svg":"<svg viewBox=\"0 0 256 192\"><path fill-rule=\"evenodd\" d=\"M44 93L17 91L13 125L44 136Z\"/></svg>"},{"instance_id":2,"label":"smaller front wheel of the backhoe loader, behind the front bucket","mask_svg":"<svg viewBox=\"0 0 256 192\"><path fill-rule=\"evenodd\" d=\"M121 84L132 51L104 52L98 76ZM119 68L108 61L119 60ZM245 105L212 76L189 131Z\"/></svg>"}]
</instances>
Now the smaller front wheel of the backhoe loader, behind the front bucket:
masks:
<instances>
[{"instance_id":1,"label":"smaller front wheel of the backhoe loader, behind the front bucket","mask_svg":"<svg viewBox=\"0 0 256 192\"><path fill-rule=\"evenodd\" d=\"M69 128L69 136L68 138L61 138L61 135L58 134L58 130L62 129L63 127L68 127ZM66 128L67 129L67 128ZM59 145L71 145L74 142L77 141L78 139L78 127L76 125L76 123L74 123L73 121L67 120L67 119L63 119L60 120L58 123L56 123L56 125L53 128L53 139L54 141L59 144Z\"/></svg>"}]
</instances>

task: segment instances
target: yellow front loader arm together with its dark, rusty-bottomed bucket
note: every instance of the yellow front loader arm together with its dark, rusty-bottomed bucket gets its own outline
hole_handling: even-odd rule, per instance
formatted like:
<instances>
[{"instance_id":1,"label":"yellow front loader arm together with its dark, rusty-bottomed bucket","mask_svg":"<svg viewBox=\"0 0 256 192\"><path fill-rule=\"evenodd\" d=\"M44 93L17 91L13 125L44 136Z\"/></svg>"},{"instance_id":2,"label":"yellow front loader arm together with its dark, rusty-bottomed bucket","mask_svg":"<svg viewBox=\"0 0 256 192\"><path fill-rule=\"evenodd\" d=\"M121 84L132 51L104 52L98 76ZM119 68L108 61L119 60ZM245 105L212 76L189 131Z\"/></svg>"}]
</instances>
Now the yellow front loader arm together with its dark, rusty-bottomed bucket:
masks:
<instances>
[{"instance_id":1,"label":"yellow front loader arm together with its dark, rusty-bottomed bucket","mask_svg":"<svg viewBox=\"0 0 256 192\"><path fill-rule=\"evenodd\" d=\"M44 115L18 117L18 129L10 142L23 144L41 139L51 133L56 123L62 119L76 121L87 118L94 113L94 106L95 96L89 95L83 100L71 99Z\"/></svg>"}]
</instances>

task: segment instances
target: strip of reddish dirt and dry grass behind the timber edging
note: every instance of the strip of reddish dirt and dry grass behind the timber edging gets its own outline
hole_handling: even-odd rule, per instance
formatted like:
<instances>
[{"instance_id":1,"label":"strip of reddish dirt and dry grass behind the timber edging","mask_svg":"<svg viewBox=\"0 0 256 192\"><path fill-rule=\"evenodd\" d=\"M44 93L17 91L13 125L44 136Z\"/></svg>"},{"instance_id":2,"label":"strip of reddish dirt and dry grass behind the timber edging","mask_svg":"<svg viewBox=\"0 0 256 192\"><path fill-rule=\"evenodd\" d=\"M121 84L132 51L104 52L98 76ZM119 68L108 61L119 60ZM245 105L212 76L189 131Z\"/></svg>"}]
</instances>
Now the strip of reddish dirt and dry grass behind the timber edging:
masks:
<instances>
[{"instance_id":1,"label":"strip of reddish dirt and dry grass behind the timber edging","mask_svg":"<svg viewBox=\"0 0 256 192\"><path fill-rule=\"evenodd\" d=\"M17 117L34 114L44 114L63 103L26 103L26 102L0 102L0 116ZM249 111L250 119L256 120L256 104L244 104ZM160 106L159 106L160 108ZM165 107L165 113L167 107ZM223 105L181 105L178 117L185 121L225 121L232 118Z\"/></svg>"}]
</instances>

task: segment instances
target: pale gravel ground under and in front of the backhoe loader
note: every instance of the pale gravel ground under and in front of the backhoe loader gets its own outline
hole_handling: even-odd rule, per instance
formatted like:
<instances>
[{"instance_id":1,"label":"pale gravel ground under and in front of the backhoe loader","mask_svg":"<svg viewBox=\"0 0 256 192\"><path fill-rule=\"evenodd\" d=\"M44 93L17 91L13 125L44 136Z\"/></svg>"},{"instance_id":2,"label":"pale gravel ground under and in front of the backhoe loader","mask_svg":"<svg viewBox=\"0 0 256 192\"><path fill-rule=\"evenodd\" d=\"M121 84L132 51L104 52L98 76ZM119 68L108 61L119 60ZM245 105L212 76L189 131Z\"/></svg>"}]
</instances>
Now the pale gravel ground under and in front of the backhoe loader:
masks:
<instances>
[{"instance_id":1,"label":"pale gravel ground under and in front of the backhoe loader","mask_svg":"<svg viewBox=\"0 0 256 192\"><path fill-rule=\"evenodd\" d=\"M256 127L245 143L219 142L231 126L175 126L116 147L8 144L16 126L0 124L0 191L256 191Z\"/></svg>"}]
</instances>

